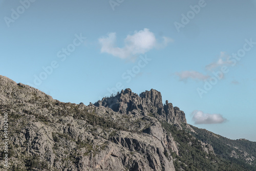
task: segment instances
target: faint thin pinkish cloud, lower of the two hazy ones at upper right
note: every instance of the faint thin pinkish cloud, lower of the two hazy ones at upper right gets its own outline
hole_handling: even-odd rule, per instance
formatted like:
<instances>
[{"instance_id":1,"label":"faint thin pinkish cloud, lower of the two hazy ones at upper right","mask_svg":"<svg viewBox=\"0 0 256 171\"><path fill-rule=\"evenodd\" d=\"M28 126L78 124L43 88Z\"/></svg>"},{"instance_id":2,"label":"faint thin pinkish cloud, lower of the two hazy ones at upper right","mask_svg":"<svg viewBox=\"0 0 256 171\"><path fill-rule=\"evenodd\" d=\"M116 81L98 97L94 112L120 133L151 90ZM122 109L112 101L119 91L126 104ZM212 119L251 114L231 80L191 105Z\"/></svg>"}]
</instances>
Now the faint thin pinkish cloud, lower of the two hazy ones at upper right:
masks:
<instances>
[{"instance_id":1,"label":"faint thin pinkish cloud, lower of the two hazy ones at upper right","mask_svg":"<svg viewBox=\"0 0 256 171\"><path fill-rule=\"evenodd\" d=\"M201 74L197 71L182 71L182 72L176 73L176 75L179 76L181 81L186 81L188 78L193 80L203 81L209 78L208 75Z\"/></svg>"}]
</instances>

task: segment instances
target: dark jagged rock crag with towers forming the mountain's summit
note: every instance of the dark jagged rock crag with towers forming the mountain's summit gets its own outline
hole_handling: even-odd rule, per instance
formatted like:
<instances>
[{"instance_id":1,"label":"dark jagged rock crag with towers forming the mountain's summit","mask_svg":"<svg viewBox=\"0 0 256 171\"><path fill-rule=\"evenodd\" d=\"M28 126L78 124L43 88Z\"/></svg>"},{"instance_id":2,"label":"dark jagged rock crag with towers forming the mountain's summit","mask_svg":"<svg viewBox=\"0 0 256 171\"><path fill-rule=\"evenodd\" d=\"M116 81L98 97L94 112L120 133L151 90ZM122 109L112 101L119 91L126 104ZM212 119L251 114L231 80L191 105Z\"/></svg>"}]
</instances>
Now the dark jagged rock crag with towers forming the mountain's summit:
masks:
<instances>
[{"instance_id":1,"label":"dark jagged rock crag with towers forming the mountain's summit","mask_svg":"<svg viewBox=\"0 0 256 171\"><path fill-rule=\"evenodd\" d=\"M114 97L103 98L94 103L95 106L104 106L120 114L155 115L158 119L165 120L170 124L180 126L186 123L185 114L178 107L173 107L172 103L162 103L160 92L151 89L140 95L133 93L131 89L122 90Z\"/></svg>"}]
</instances>

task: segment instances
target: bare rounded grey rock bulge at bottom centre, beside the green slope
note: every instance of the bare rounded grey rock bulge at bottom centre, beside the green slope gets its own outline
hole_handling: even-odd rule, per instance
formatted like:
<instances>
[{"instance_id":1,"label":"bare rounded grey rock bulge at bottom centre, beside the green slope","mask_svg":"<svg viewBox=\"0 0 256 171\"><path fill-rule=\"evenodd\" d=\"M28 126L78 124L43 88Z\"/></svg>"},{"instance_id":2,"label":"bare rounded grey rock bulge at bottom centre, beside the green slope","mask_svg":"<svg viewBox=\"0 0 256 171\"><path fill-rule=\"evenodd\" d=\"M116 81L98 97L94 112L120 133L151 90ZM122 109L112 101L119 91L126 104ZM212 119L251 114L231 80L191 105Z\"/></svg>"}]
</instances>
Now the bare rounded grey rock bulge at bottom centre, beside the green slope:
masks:
<instances>
[{"instance_id":1,"label":"bare rounded grey rock bulge at bottom centre, beside the green slope","mask_svg":"<svg viewBox=\"0 0 256 171\"><path fill-rule=\"evenodd\" d=\"M134 159L142 159L130 163L131 166L136 165L136 168L132 167L134 170L175 170L172 157L167 158L164 155L167 148L154 136L120 132L112 140L128 148Z\"/></svg>"}]
</instances>

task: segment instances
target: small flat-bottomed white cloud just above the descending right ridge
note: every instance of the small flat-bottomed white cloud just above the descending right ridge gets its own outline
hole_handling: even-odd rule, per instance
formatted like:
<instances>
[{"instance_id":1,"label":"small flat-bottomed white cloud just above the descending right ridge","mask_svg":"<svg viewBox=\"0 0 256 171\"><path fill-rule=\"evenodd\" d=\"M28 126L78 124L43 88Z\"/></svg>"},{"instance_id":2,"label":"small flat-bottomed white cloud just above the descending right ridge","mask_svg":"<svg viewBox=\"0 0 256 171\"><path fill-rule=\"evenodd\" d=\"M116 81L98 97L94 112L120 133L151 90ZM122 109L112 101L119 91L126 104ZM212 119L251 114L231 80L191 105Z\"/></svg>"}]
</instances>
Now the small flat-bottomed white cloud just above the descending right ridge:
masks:
<instances>
[{"instance_id":1,"label":"small flat-bottomed white cloud just above the descending right ridge","mask_svg":"<svg viewBox=\"0 0 256 171\"><path fill-rule=\"evenodd\" d=\"M195 124L213 124L213 123L223 123L227 119L223 118L221 114L206 114L202 111L195 110L193 113L192 120Z\"/></svg>"}]
</instances>

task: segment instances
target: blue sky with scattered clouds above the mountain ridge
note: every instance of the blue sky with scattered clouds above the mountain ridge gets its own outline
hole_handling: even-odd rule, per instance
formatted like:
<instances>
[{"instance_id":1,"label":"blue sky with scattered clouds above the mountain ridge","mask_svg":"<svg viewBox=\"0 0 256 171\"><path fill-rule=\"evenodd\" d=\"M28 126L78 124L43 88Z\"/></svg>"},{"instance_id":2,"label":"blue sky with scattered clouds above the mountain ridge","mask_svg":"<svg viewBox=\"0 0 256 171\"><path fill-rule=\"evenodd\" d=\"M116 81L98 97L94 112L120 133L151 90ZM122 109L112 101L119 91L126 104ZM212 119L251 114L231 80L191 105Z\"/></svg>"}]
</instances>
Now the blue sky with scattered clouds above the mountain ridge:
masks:
<instances>
[{"instance_id":1,"label":"blue sky with scattered clouds above the mountain ridge","mask_svg":"<svg viewBox=\"0 0 256 171\"><path fill-rule=\"evenodd\" d=\"M0 0L0 75L88 105L155 89L187 123L256 141L256 2Z\"/></svg>"}]
</instances>

